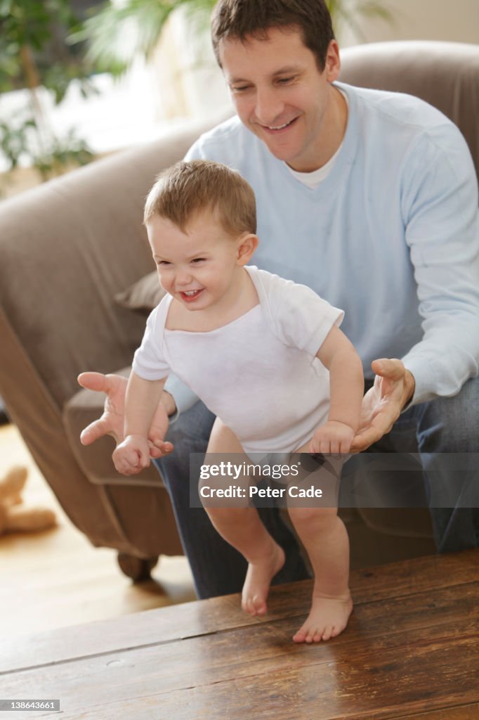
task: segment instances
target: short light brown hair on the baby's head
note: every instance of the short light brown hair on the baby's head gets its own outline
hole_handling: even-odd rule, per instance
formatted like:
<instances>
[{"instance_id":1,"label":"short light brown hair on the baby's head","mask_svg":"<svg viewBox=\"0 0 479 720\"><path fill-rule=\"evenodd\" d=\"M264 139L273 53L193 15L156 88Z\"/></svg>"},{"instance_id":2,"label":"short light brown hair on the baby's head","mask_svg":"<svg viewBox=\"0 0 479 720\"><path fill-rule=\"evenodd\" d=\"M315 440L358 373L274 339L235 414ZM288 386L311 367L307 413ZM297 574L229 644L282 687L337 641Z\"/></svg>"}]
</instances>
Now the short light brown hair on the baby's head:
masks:
<instances>
[{"instance_id":1,"label":"short light brown hair on the baby's head","mask_svg":"<svg viewBox=\"0 0 479 720\"><path fill-rule=\"evenodd\" d=\"M236 170L210 160L181 161L161 172L148 194L143 222L159 215L184 233L204 210L215 213L232 238L256 233L252 187Z\"/></svg>"}]
</instances>

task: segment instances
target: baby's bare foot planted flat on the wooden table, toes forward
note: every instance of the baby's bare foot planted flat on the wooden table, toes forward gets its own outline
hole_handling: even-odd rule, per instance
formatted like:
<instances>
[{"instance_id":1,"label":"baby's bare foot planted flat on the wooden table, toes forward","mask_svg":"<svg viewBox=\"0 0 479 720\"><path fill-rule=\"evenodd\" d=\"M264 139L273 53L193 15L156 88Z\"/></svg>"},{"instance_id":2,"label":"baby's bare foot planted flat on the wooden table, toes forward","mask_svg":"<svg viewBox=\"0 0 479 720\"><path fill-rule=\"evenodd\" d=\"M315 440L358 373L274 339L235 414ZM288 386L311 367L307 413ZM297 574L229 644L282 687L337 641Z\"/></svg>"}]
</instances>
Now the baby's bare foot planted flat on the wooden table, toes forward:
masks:
<instances>
[{"instance_id":1,"label":"baby's bare foot planted flat on the wooden table, toes forward","mask_svg":"<svg viewBox=\"0 0 479 720\"><path fill-rule=\"evenodd\" d=\"M293 635L294 642L320 642L336 637L347 626L352 611L349 593L342 598L327 598L313 593L308 619Z\"/></svg>"}]
</instances>

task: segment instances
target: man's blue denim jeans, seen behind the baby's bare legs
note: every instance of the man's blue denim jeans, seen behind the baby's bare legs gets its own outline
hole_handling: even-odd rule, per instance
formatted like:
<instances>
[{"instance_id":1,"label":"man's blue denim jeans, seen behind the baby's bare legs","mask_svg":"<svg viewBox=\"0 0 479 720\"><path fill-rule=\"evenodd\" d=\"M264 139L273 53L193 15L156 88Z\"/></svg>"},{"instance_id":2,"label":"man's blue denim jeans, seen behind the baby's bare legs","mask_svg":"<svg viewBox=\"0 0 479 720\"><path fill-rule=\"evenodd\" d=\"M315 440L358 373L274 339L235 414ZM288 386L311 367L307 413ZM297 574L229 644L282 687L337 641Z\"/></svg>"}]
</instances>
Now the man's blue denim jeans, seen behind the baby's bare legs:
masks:
<instances>
[{"instance_id":1,"label":"man's blue denim jeans, seen behind the baby's bare legs","mask_svg":"<svg viewBox=\"0 0 479 720\"><path fill-rule=\"evenodd\" d=\"M443 462L444 453L467 457L468 453L479 452L478 414L479 379L471 379L455 397L437 398L407 410L398 418L391 433L374 448L380 452L409 452L414 449L411 436L415 440L426 471L424 476L421 473L421 483L426 483L439 552L478 545L479 471L475 463L478 456L471 455L470 467L461 472L459 479L455 478L455 495L448 487L451 468ZM170 495L199 598L238 593L247 568L242 555L216 532L203 508L190 506L190 454L206 451L213 422L214 415L197 402L170 426L167 439L175 445L173 454L155 461ZM194 462L198 467L196 472L192 469L192 478L193 474L199 477L201 457ZM457 487L458 481L461 487ZM194 482L191 482L191 492L196 492ZM451 495L457 498L455 507L444 507L444 497ZM259 512L270 534L286 552L286 563L274 584L308 577L296 540L281 520L279 510L259 508Z\"/></svg>"}]
</instances>

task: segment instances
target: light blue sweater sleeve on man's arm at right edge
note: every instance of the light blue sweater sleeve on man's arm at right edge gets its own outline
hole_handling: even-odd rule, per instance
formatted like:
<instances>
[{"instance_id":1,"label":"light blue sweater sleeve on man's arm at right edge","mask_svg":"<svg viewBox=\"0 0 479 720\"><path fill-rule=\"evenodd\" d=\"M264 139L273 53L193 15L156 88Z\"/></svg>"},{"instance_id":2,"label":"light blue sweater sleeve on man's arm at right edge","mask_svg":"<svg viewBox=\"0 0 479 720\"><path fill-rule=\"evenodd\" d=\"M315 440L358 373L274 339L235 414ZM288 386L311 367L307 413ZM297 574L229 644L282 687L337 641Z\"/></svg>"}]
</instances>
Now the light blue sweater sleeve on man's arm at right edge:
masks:
<instances>
[{"instance_id":1,"label":"light blue sweater sleeve on man's arm at right edge","mask_svg":"<svg viewBox=\"0 0 479 720\"><path fill-rule=\"evenodd\" d=\"M473 161L455 126L424 135L413 158L402 208L424 336L403 363L417 404L455 395L478 374L479 221Z\"/></svg>"}]
</instances>

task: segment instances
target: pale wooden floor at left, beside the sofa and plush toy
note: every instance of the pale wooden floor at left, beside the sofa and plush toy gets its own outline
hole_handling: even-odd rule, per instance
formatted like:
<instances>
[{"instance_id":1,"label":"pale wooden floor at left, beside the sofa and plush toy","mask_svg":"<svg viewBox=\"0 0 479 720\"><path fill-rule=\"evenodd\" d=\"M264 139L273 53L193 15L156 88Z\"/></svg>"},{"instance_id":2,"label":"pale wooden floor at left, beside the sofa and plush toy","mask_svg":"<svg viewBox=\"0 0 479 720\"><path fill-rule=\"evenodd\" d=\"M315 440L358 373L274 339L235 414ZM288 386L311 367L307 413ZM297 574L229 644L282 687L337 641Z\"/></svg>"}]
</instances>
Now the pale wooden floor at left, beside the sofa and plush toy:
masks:
<instances>
[{"instance_id":1,"label":"pale wooden floor at left, beside the sofa and plush toy","mask_svg":"<svg viewBox=\"0 0 479 720\"><path fill-rule=\"evenodd\" d=\"M161 557L153 580L133 585L116 552L93 548L68 520L38 471L17 428L0 428L0 477L27 465L25 503L55 510L58 527L0 537L0 634L14 637L195 599L184 557Z\"/></svg>"}]
</instances>

